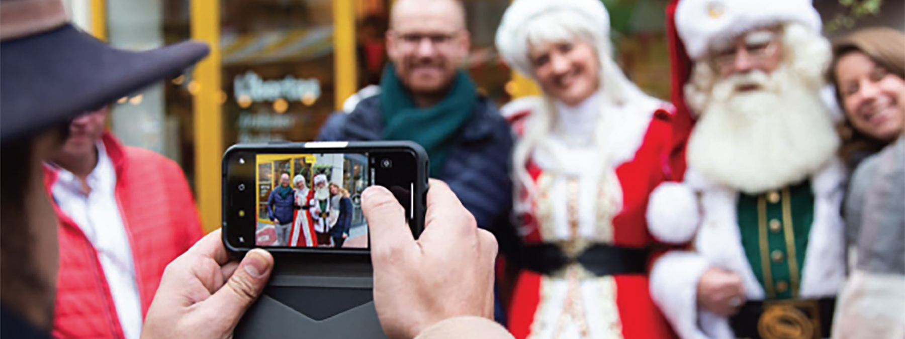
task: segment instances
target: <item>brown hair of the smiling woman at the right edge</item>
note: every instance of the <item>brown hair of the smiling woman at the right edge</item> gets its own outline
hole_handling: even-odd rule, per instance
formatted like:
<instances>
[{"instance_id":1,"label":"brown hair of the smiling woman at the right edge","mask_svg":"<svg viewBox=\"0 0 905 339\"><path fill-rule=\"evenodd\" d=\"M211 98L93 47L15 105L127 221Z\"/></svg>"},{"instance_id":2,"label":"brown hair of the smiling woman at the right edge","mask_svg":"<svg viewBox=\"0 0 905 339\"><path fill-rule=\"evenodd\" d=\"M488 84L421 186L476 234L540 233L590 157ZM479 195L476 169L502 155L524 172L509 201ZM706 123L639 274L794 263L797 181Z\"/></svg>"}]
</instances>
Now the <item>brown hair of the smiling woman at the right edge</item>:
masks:
<instances>
[{"instance_id":1,"label":"brown hair of the smiling woman at the right edge","mask_svg":"<svg viewBox=\"0 0 905 339\"><path fill-rule=\"evenodd\" d=\"M852 52L863 53L878 66L905 80L905 33L891 28L872 27L834 39L833 61L827 70L827 78L835 86L836 101L843 110L845 105L839 91L836 66L839 59ZM839 155L850 168L856 167L864 157L879 152L890 143L858 131L849 121L847 112L836 129L843 140L843 145L839 147Z\"/></svg>"}]
</instances>

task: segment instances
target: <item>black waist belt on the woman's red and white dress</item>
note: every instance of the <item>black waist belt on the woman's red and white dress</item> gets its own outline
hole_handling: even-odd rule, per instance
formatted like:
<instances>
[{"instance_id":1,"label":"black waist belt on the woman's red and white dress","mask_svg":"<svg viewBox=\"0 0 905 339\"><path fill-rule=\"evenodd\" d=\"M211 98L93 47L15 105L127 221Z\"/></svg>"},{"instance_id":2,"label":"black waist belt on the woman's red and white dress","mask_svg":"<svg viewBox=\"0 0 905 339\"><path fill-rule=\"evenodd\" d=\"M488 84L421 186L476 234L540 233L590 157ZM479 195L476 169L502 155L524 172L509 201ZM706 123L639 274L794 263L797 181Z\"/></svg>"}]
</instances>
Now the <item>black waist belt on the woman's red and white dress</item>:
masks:
<instances>
[{"instance_id":1,"label":"black waist belt on the woman's red and white dress","mask_svg":"<svg viewBox=\"0 0 905 339\"><path fill-rule=\"evenodd\" d=\"M551 243L526 246L523 253L525 268L543 275L551 275L569 264L578 263L597 277L645 274L649 257L647 249L600 244L588 248L574 259Z\"/></svg>"}]
</instances>

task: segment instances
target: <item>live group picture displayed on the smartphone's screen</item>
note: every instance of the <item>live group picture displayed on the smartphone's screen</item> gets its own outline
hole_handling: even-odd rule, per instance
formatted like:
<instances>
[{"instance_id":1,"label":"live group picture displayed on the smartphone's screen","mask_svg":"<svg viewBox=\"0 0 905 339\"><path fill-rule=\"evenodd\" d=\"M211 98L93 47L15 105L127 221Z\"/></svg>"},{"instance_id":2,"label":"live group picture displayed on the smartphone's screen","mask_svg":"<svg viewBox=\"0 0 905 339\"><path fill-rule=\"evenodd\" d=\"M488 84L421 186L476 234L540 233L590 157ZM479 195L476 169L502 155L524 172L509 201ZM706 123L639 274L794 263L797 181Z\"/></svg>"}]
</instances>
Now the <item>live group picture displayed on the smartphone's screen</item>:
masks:
<instances>
[{"instance_id":1,"label":"live group picture displayed on the smartphone's screen","mask_svg":"<svg viewBox=\"0 0 905 339\"><path fill-rule=\"evenodd\" d=\"M255 245L367 249L361 193L370 185L367 155L255 155Z\"/></svg>"}]
</instances>

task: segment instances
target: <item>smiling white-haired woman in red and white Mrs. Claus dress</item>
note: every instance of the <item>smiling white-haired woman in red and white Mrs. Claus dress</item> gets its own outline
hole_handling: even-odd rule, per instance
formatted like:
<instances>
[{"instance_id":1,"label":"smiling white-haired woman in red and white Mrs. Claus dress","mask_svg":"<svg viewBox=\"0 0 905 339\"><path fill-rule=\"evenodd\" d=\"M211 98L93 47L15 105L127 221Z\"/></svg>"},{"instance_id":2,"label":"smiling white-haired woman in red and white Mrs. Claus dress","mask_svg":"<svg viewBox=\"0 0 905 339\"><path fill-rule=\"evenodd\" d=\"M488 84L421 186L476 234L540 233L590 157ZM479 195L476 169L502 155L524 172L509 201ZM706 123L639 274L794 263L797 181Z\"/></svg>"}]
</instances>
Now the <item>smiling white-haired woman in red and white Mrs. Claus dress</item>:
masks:
<instances>
[{"instance_id":1,"label":"smiling white-haired woman in red and white Mrs. Claus dress","mask_svg":"<svg viewBox=\"0 0 905 339\"><path fill-rule=\"evenodd\" d=\"M648 292L644 219L653 188L684 167L668 161L681 133L672 106L625 79L599 0L516 0L497 32L505 61L543 89L507 109L526 244L510 331L672 338Z\"/></svg>"}]
</instances>

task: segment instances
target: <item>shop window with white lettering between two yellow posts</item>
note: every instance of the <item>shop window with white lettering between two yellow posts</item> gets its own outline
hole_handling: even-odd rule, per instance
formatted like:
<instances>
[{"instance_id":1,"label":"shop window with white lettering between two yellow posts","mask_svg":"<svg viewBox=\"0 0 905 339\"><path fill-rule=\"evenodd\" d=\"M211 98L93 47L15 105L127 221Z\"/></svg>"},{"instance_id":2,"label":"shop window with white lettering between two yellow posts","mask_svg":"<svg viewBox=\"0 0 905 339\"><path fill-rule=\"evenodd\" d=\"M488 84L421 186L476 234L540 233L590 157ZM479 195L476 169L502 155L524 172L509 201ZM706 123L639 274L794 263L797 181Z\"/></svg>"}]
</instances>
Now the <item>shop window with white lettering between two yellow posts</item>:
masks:
<instances>
[{"instance_id":1,"label":"shop window with white lettering between two yellow posts","mask_svg":"<svg viewBox=\"0 0 905 339\"><path fill-rule=\"evenodd\" d=\"M224 145L317 137L335 102L331 2L222 5Z\"/></svg>"}]
</instances>

